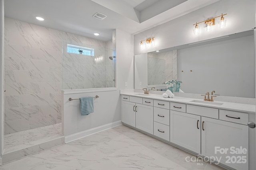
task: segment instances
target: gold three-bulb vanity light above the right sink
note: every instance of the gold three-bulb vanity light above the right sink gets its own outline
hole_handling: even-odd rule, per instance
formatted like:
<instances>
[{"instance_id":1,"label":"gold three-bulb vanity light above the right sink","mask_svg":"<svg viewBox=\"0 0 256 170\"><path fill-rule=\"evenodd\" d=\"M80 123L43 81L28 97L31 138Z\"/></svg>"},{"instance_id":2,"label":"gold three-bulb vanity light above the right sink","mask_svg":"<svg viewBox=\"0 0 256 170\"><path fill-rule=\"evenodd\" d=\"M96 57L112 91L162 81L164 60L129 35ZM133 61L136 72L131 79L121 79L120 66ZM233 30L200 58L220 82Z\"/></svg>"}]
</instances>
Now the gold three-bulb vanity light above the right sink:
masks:
<instances>
[{"instance_id":1,"label":"gold three-bulb vanity light above the right sink","mask_svg":"<svg viewBox=\"0 0 256 170\"><path fill-rule=\"evenodd\" d=\"M215 24L215 18L218 18L218 17L221 17L219 20L218 20L218 25L220 28L224 28L226 26L226 20L225 18L223 17L224 15L227 15L227 14L221 14L221 16L217 16L217 17L214 17L214 18L211 18L208 20L205 20L205 21L202 21L204 22L204 25L205 25L205 29L206 31L211 31L212 30L212 26ZM198 26L198 23L202 23L202 22L196 22L194 27L193 27L193 32L194 32L194 35L198 35L199 32L200 32L200 27Z\"/></svg>"}]
</instances>

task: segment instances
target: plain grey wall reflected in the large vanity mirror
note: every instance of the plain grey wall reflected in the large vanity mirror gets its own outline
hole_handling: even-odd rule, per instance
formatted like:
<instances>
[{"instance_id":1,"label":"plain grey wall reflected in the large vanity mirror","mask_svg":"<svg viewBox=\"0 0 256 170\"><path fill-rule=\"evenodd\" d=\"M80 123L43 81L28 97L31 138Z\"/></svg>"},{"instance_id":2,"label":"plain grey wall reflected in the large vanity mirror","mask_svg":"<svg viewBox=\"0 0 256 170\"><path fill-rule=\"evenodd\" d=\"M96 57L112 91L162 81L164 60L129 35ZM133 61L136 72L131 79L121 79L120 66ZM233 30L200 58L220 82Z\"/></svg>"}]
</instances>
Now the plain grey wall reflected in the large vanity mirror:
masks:
<instances>
[{"instance_id":1,"label":"plain grey wall reflected in the large vanity mirror","mask_svg":"<svg viewBox=\"0 0 256 170\"><path fill-rule=\"evenodd\" d=\"M221 96L254 98L254 35L177 53L178 80L183 82L184 92L205 94L215 90Z\"/></svg>"}]
</instances>

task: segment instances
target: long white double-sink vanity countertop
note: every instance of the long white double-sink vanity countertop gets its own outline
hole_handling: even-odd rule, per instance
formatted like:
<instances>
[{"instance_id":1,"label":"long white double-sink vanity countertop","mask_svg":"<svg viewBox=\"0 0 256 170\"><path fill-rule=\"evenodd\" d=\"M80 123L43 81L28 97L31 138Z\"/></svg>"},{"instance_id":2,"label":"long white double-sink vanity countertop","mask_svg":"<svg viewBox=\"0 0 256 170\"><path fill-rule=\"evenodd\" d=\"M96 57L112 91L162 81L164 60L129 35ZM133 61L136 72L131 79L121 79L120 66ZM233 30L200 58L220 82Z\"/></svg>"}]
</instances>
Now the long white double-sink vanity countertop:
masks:
<instances>
[{"instance_id":1,"label":"long white double-sink vanity countertop","mask_svg":"<svg viewBox=\"0 0 256 170\"><path fill-rule=\"evenodd\" d=\"M206 106L206 107L212 107L212 108L218 108L218 109L226 109L226 110L239 111L244 113L255 113L255 110L256 110L256 106L252 104L240 104L240 103L232 103L232 102L214 101L215 103L223 103L223 104L213 105L211 103L214 103L214 102L205 102L205 103L191 102L192 100L204 102L204 100L202 99L195 99L195 98L184 98L184 97L176 97L176 96L174 98L164 98L162 95L159 95L159 94L149 94L144 96L143 93L138 93L138 92L120 92L120 94L128 95L128 96L136 96L140 98L163 100L168 102L191 104L196 106ZM138 94L142 94L143 96Z\"/></svg>"}]
</instances>

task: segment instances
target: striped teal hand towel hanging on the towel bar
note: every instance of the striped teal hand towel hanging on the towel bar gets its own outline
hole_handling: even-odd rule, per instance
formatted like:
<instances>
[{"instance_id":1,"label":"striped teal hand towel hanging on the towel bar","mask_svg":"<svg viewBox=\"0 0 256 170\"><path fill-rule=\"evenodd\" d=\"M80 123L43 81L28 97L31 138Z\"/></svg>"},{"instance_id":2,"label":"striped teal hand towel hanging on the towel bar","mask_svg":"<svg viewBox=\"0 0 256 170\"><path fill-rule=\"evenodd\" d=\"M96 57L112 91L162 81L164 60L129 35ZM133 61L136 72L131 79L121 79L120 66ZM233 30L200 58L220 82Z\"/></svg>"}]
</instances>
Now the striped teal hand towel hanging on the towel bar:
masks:
<instances>
[{"instance_id":1,"label":"striped teal hand towel hanging on the towel bar","mask_svg":"<svg viewBox=\"0 0 256 170\"><path fill-rule=\"evenodd\" d=\"M80 112L81 115L88 115L94 112L92 97L80 98Z\"/></svg>"}]
</instances>

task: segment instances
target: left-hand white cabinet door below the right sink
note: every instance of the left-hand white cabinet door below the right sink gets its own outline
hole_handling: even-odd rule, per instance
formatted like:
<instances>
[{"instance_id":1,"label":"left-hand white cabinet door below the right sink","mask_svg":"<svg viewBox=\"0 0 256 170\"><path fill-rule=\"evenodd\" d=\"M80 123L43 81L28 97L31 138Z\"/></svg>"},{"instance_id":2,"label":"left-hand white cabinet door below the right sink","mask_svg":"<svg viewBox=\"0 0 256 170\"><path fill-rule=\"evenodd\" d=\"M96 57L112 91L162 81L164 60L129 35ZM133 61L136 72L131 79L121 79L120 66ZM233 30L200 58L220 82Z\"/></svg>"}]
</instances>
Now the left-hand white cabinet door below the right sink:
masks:
<instances>
[{"instance_id":1,"label":"left-hand white cabinet door below the right sink","mask_svg":"<svg viewBox=\"0 0 256 170\"><path fill-rule=\"evenodd\" d=\"M200 154L200 118L170 110L170 142Z\"/></svg>"}]
</instances>

